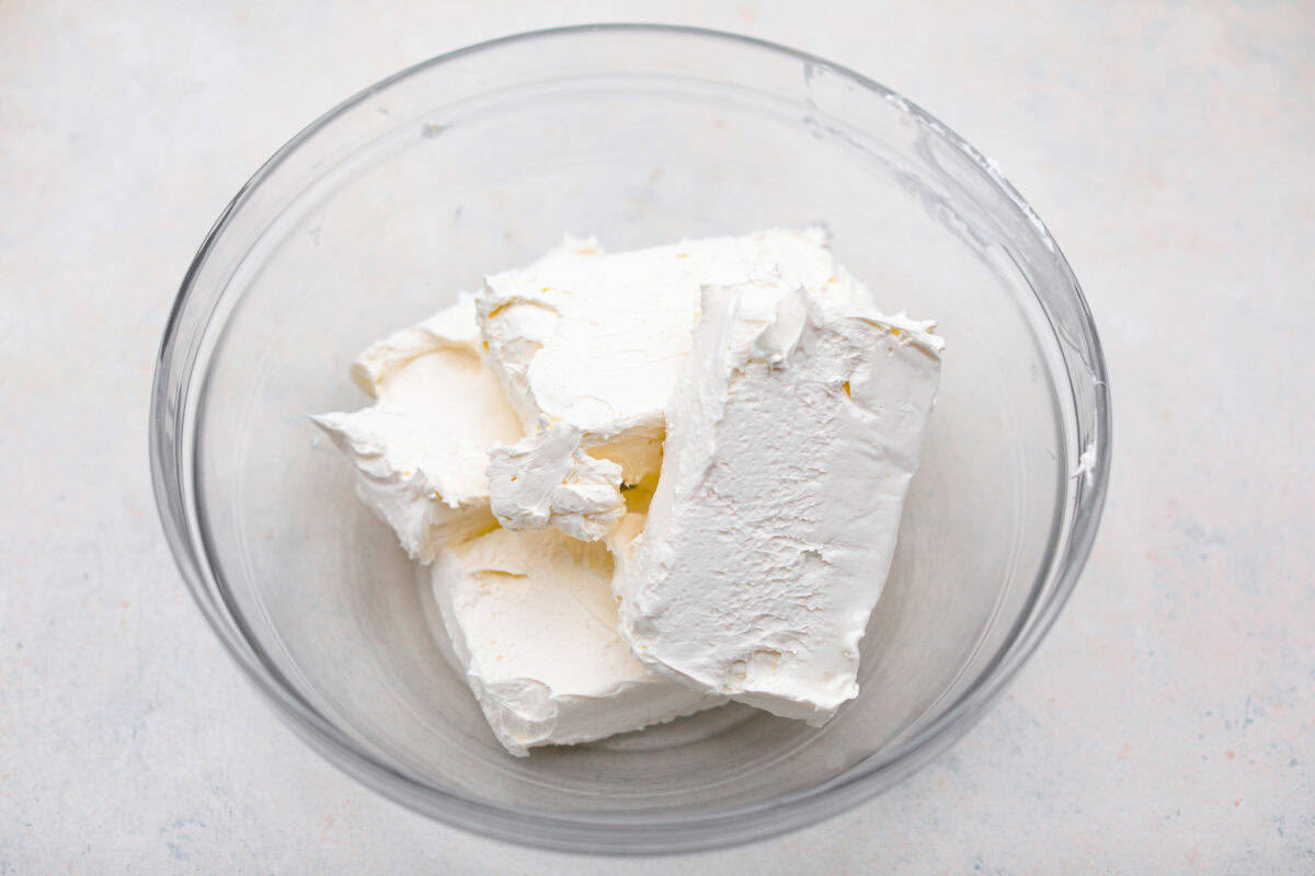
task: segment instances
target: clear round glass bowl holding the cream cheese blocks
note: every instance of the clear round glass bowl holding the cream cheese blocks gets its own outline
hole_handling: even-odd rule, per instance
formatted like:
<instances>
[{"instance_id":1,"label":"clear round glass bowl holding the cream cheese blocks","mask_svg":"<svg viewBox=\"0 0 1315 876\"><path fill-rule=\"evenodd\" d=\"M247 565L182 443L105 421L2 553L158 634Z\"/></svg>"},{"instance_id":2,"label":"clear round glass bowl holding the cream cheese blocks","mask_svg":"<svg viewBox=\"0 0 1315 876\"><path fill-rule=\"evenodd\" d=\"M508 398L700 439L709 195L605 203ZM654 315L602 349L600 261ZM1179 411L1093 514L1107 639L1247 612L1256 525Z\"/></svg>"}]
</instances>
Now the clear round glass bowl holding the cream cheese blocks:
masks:
<instances>
[{"instance_id":1,"label":"clear round glass bowl holding the cream cheese blocks","mask_svg":"<svg viewBox=\"0 0 1315 876\"><path fill-rule=\"evenodd\" d=\"M939 318L948 344L861 695L822 729L730 705L509 756L435 642L427 588L306 414L363 405L347 380L362 347L563 231L623 250L815 221L886 309ZM780 834L948 746L1073 587L1109 454L1077 281L989 162L835 64L660 26L484 43L314 122L201 246L151 405L183 577L276 712L418 812L593 852Z\"/></svg>"}]
</instances>

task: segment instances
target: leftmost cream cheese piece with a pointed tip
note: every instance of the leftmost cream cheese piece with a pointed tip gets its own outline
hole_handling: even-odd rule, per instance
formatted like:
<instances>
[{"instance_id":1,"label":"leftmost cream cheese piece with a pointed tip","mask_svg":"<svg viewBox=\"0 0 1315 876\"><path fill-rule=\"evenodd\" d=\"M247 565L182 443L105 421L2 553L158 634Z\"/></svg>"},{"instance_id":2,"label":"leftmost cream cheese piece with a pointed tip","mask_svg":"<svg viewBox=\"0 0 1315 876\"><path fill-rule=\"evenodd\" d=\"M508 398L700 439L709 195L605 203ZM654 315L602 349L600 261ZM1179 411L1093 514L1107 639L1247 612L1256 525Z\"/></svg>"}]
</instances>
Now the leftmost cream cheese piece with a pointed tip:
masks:
<instances>
[{"instance_id":1,"label":"leftmost cream cheese piece with a pointed tip","mask_svg":"<svg viewBox=\"0 0 1315 876\"><path fill-rule=\"evenodd\" d=\"M351 374L376 403L310 419L356 466L356 493L406 553L429 562L448 540L492 529L488 448L522 428L481 361L473 299L371 345Z\"/></svg>"}]
</instances>

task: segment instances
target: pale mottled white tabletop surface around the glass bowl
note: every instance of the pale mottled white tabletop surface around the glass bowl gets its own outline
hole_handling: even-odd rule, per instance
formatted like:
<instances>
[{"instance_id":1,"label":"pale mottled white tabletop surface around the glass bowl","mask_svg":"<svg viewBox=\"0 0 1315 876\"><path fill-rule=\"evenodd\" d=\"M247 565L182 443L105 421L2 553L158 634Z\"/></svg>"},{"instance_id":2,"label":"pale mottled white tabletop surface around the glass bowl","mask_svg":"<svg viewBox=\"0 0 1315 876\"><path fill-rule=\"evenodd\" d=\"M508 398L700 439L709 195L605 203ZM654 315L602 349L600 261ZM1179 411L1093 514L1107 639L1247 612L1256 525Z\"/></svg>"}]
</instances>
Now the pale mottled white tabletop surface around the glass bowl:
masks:
<instances>
[{"instance_id":1,"label":"pale mottled white tabletop surface around the glass bowl","mask_svg":"<svg viewBox=\"0 0 1315 876\"><path fill-rule=\"evenodd\" d=\"M0 4L0 873L1315 871L1315 13L927 5ZM1082 583L959 746L821 826L618 863L305 749L179 583L145 427L195 247L299 127L447 49L639 18L832 58L997 159L1085 284L1116 436Z\"/></svg>"}]
</instances>

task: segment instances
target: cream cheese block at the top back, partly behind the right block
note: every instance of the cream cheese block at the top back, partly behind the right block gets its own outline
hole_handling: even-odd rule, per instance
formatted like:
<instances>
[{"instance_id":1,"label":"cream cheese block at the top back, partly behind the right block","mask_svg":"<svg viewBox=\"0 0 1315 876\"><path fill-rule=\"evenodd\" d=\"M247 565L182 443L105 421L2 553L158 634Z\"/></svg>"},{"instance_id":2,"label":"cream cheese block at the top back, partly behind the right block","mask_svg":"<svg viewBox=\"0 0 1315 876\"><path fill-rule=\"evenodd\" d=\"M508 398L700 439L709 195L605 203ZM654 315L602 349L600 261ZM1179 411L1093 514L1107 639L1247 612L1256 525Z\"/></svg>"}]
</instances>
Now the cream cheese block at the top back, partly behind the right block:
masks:
<instances>
[{"instance_id":1,"label":"cream cheese block at the top back, partly behind the right block","mask_svg":"<svg viewBox=\"0 0 1315 876\"><path fill-rule=\"evenodd\" d=\"M577 429L583 447L626 483L658 470L665 408L700 315L702 285L764 267L823 298L868 299L839 269L821 229L768 230L606 255L567 242L493 274L476 296L489 361L527 431L542 418Z\"/></svg>"}]
</instances>

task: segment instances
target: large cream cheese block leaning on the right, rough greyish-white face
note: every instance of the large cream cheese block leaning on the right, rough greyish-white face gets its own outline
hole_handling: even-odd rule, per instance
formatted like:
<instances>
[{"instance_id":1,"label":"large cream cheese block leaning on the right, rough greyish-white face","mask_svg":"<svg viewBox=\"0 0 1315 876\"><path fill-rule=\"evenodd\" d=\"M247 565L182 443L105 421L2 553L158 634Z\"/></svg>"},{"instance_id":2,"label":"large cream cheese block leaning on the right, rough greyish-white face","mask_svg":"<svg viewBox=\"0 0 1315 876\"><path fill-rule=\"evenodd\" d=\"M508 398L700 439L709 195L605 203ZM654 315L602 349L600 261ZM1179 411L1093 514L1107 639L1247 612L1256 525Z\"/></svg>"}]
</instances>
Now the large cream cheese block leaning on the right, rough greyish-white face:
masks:
<instances>
[{"instance_id":1,"label":"large cream cheese block leaning on the right, rough greyish-white face","mask_svg":"<svg viewBox=\"0 0 1315 876\"><path fill-rule=\"evenodd\" d=\"M818 725L857 693L939 381L932 327L823 309L780 276L705 290L614 582L644 663Z\"/></svg>"}]
</instances>

